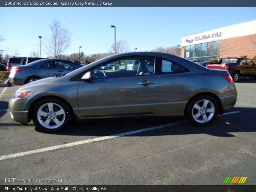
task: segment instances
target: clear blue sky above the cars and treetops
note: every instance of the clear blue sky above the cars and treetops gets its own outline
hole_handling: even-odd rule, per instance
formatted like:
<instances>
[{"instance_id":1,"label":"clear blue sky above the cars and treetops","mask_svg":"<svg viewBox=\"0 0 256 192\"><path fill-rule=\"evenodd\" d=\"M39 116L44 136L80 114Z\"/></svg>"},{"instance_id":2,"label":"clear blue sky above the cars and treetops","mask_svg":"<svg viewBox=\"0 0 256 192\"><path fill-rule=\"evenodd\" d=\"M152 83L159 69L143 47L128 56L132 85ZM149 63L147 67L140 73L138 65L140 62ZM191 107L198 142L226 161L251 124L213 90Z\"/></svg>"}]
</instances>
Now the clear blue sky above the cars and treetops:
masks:
<instances>
[{"instance_id":1,"label":"clear blue sky above the cars and treetops","mask_svg":"<svg viewBox=\"0 0 256 192\"><path fill-rule=\"evenodd\" d=\"M256 19L255 7L23 7L0 8L0 43L4 54L30 56L39 52L39 38L51 34L49 24L59 20L71 33L71 45L64 54L86 55L109 52L116 41L126 40L130 51L151 51L157 47L181 44L181 37ZM256 26L255 26L256 27ZM248 29L250 30L250 29ZM42 57L46 57L42 53Z\"/></svg>"}]
</instances>

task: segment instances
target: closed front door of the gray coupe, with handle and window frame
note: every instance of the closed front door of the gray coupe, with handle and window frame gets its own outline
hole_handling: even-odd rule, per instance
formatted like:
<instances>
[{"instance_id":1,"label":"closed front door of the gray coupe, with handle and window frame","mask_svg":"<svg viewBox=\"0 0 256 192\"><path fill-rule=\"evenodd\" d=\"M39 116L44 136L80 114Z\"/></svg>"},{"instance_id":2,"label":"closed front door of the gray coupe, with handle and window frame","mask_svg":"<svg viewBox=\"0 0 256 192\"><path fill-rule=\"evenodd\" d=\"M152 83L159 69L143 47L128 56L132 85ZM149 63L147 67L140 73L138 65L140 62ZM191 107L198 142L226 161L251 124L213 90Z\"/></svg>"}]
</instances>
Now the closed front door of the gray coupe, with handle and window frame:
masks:
<instances>
[{"instance_id":1,"label":"closed front door of the gray coupe, with handle and window frame","mask_svg":"<svg viewBox=\"0 0 256 192\"><path fill-rule=\"evenodd\" d=\"M140 60L140 70L102 69L110 63L127 64L131 60ZM146 61L150 61L150 67L146 66ZM154 74L154 68L154 57L127 57L105 62L90 69L92 79L81 80L78 86L77 96L81 116L154 113L160 88L160 81Z\"/></svg>"}]
</instances>

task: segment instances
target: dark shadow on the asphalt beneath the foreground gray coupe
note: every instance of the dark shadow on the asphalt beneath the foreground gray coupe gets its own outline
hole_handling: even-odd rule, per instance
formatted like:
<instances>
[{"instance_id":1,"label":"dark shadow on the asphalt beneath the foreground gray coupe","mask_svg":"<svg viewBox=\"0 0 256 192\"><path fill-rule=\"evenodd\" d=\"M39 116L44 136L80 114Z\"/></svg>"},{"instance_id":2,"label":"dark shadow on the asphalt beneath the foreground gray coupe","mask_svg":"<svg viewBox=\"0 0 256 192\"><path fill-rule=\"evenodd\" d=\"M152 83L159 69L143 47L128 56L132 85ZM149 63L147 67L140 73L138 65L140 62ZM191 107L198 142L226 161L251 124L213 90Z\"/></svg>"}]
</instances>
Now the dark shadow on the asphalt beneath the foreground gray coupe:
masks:
<instances>
[{"instance_id":1,"label":"dark shadow on the asphalt beneath the foreground gray coupe","mask_svg":"<svg viewBox=\"0 0 256 192\"><path fill-rule=\"evenodd\" d=\"M217 137L235 137L232 132L256 132L256 121L254 121L256 108L232 108L232 110L227 112L231 111L240 111L240 113L217 117L211 125L206 127L197 127L187 122L185 124L178 124L167 128L141 132L128 136L209 134ZM109 136L180 121L186 121L186 118L179 116L97 119L81 121L77 124L69 125L61 132L50 134Z\"/></svg>"}]
</instances>

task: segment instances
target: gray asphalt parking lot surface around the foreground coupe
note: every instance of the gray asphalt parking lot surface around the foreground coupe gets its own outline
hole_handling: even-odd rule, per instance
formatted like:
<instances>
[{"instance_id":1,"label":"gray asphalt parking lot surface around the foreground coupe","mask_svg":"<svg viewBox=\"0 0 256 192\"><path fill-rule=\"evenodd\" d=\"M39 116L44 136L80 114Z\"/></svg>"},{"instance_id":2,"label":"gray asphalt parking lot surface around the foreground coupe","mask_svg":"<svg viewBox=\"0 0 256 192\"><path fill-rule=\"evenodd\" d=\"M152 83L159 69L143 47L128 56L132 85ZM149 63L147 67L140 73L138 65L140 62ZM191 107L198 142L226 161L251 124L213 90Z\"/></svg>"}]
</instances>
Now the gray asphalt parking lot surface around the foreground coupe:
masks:
<instances>
[{"instance_id":1,"label":"gray asphalt parking lot surface around the foreground coupe","mask_svg":"<svg viewBox=\"0 0 256 192\"><path fill-rule=\"evenodd\" d=\"M0 88L1 185L221 185L226 177L256 184L255 80L236 83L235 107L207 127L183 117L125 118L83 121L53 134L11 119L6 109L18 87Z\"/></svg>"}]
</instances>

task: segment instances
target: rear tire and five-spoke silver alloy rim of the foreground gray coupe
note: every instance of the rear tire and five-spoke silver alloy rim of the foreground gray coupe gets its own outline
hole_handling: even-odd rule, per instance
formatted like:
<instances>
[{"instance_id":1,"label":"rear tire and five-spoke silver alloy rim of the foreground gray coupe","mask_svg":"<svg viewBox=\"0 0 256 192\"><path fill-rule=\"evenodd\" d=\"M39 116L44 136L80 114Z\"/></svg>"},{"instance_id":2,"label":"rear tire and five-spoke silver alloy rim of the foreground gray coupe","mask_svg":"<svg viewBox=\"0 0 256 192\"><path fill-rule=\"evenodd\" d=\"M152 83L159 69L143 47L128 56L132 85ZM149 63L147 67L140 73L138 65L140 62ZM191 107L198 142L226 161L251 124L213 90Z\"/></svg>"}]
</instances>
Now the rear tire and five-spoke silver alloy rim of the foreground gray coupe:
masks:
<instances>
[{"instance_id":1,"label":"rear tire and five-spoke silver alloy rim of the foreground gray coupe","mask_svg":"<svg viewBox=\"0 0 256 192\"><path fill-rule=\"evenodd\" d=\"M208 102L208 105L206 106L205 109L203 109L203 107L201 106L201 103L203 104L204 100L210 101L210 102ZM200 107L200 109L198 109L198 110L194 107L196 103L198 103L198 106ZM213 113L209 112L210 110L211 111L213 110L213 107L214 107L214 112ZM202 109L202 111L201 111L201 109ZM207 110L208 110L208 112L207 112ZM208 96L208 95L202 95L202 96L198 96L198 97L192 99L189 102L188 108L186 111L186 116L187 116L189 122L191 122L192 124L194 124L196 126L206 126L206 125L211 124L215 120L215 118L218 115L218 110L219 110L218 104L213 97ZM202 114L200 114L200 112L202 112ZM197 119L195 119L193 117L193 115L196 116L197 114L198 115L200 114L200 115ZM209 120L207 122L203 122L204 121L203 116L206 116L207 119L209 118ZM202 118L202 120L201 120L201 118ZM200 122L200 121L202 121L202 122Z\"/></svg>"}]
</instances>

